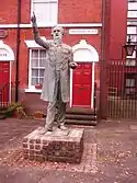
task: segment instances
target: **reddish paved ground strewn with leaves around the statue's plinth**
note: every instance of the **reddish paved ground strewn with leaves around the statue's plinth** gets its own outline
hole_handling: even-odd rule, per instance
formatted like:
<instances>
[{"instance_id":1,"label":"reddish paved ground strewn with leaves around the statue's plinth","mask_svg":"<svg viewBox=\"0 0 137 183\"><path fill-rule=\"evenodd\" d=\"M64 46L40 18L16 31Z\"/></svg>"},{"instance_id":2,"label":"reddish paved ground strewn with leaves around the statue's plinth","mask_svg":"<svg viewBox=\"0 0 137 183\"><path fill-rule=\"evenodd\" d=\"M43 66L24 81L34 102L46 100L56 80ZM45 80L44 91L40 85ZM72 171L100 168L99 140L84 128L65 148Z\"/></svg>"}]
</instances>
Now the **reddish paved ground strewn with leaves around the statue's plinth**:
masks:
<instances>
[{"instance_id":1,"label":"reddish paved ground strewn with leaves around the statue's plinth","mask_svg":"<svg viewBox=\"0 0 137 183\"><path fill-rule=\"evenodd\" d=\"M22 138L43 124L0 121L0 183L137 183L137 122L110 121L84 127L80 164L23 159Z\"/></svg>"}]
</instances>

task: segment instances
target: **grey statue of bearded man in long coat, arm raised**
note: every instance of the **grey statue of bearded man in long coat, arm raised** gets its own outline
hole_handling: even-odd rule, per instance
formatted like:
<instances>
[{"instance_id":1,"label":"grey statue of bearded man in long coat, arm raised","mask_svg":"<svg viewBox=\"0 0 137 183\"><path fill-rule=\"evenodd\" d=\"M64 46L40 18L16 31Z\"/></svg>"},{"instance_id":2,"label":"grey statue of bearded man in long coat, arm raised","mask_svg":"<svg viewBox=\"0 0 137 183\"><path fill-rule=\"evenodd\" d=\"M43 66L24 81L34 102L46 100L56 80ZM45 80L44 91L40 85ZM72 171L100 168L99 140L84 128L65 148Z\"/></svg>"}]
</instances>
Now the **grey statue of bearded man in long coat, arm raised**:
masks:
<instances>
[{"instance_id":1,"label":"grey statue of bearded man in long coat, arm raised","mask_svg":"<svg viewBox=\"0 0 137 183\"><path fill-rule=\"evenodd\" d=\"M60 129L65 127L66 104L70 94L70 68L78 65L73 61L70 46L62 43L64 28L54 26L52 28L53 41L43 41L39 36L36 16L32 19L35 42L46 49L44 83L41 99L48 102L47 116L44 131L53 131L54 119L57 112L57 125Z\"/></svg>"}]
</instances>

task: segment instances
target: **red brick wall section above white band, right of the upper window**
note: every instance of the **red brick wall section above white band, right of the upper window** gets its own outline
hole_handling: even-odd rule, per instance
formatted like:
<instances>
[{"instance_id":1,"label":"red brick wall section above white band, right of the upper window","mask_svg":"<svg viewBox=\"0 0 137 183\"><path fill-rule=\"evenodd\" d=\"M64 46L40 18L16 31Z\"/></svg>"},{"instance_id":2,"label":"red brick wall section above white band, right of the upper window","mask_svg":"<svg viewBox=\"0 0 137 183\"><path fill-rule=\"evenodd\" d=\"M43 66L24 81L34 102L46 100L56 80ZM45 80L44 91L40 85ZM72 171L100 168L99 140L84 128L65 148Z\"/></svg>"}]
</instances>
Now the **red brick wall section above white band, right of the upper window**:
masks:
<instances>
[{"instance_id":1,"label":"red brick wall section above white band, right of the upper window","mask_svg":"<svg viewBox=\"0 0 137 183\"><path fill-rule=\"evenodd\" d=\"M101 22L102 0L59 0L59 23Z\"/></svg>"}]
</instances>

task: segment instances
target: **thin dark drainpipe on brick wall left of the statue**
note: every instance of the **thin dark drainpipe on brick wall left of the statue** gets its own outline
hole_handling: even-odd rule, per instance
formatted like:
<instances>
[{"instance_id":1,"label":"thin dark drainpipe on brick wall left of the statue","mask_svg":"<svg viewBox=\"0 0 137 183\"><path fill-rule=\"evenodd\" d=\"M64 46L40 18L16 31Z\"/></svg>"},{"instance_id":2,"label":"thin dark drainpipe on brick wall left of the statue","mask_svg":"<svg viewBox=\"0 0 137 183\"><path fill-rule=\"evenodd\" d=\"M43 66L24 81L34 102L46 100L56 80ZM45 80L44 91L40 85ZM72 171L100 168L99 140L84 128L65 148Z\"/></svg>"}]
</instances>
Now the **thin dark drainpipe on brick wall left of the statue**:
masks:
<instances>
[{"instance_id":1,"label":"thin dark drainpipe on brick wall left of the statue","mask_svg":"<svg viewBox=\"0 0 137 183\"><path fill-rule=\"evenodd\" d=\"M19 101L19 58L20 58L20 24L21 24L21 0L18 0L18 30L16 30L16 65L15 65L15 102Z\"/></svg>"}]
</instances>

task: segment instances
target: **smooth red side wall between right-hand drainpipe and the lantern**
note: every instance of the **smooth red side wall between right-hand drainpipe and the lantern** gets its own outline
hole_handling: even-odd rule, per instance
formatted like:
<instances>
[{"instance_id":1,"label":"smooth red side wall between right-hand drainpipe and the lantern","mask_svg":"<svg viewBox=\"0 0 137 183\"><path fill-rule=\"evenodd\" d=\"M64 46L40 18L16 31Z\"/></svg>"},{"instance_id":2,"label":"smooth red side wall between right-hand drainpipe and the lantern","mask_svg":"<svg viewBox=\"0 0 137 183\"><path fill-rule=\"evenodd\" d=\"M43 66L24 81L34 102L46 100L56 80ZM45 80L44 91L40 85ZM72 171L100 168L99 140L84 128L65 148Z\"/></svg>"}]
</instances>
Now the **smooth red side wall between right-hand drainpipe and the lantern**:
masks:
<instances>
[{"instance_id":1,"label":"smooth red side wall between right-hand drainpipe and the lantern","mask_svg":"<svg viewBox=\"0 0 137 183\"><path fill-rule=\"evenodd\" d=\"M122 47L126 41L127 1L111 1L110 59L122 59Z\"/></svg>"}]
</instances>

